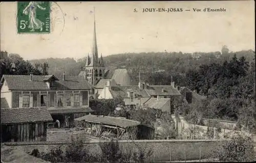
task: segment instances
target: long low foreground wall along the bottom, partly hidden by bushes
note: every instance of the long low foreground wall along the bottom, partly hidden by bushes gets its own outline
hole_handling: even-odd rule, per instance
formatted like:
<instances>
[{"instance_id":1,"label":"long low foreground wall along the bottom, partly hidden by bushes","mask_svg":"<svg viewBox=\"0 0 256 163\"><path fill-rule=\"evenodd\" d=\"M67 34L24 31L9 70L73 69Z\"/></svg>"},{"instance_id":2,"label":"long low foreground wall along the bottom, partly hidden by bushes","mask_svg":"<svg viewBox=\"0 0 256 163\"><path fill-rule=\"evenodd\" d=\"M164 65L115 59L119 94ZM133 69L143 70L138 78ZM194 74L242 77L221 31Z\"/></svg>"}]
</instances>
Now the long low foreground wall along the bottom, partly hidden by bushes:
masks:
<instances>
[{"instance_id":1,"label":"long low foreground wall along the bottom, partly hidden by bushes","mask_svg":"<svg viewBox=\"0 0 256 163\"><path fill-rule=\"evenodd\" d=\"M91 141L84 143L90 148L90 151L98 155L101 153L100 143L102 141ZM138 147L142 149L152 149L153 154L147 161L169 161L171 160L197 160L211 156L211 152L221 146L223 141L220 140L136 140L136 141L120 141L120 148L125 149L133 147L137 151ZM39 152L50 151L56 149L57 144L49 145L26 145L21 146L25 152L31 152L38 149ZM61 148L65 150L67 143L62 143Z\"/></svg>"}]
</instances>

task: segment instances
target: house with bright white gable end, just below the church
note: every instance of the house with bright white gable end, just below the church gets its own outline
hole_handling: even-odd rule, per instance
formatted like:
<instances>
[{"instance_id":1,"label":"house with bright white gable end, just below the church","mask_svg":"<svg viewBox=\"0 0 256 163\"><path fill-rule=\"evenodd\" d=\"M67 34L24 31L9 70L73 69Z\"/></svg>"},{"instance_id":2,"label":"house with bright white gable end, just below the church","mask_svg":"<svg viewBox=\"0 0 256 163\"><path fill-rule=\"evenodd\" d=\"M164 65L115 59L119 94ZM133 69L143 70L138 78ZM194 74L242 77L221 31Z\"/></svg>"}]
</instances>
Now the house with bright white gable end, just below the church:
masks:
<instances>
[{"instance_id":1,"label":"house with bright white gable end, just below the church","mask_svg":"<svg viewBox=\"0 0 256 163\"><path fill-rule=\"evenodd\" d=\"M140 89L138 85L129 86L112 86L108 81L98 96L99 99L123 99L125 105L135 106L142 105L145 101L150 99L150 95L145 90Z\"/></svg>"}]
</instances>

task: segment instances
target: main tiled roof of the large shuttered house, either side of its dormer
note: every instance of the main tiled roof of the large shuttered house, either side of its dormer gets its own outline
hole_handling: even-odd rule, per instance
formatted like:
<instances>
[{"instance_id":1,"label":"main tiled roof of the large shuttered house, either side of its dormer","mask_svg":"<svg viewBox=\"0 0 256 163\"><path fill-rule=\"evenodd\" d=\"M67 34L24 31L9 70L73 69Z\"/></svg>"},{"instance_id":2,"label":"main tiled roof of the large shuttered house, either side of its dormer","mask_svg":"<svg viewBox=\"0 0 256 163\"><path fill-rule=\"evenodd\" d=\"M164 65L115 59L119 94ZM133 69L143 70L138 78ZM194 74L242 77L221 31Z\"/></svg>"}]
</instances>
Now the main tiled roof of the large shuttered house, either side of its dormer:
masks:
<instances>
[{"instance_id":1,"label":"main tiled roof of the large shuttered house, either side of its dormer","mask_svg":"<svg viewBox=\"0 0 256 163\"><path fill-rule=\"evenodd\" d=\"M9 90L51 90L48 88L45 79L49 76L33 75L3 75ZM92 89L92 85L83 76L65 76L55 81L56 90L85 90Z\"/></svg>"}]
</instances>

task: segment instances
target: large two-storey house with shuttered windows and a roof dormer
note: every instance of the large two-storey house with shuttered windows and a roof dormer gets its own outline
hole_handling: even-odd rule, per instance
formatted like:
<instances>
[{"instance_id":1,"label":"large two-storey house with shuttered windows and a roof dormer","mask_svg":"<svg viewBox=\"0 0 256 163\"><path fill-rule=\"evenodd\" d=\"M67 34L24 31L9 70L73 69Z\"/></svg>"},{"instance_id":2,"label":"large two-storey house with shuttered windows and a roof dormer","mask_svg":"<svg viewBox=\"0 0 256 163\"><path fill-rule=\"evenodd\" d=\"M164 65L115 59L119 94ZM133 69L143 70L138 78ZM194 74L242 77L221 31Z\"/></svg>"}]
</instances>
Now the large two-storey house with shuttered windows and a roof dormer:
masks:
<instances>
[{"instance_id":1,"label":"large two-storey house with shuttered windows and a roof dormer","mask_svg":"<svg viewBox=\"0 0 256 163\"><path fill-rule=\"evenodd\" d=\"M54 121L71 126L75 118L93 112L89 107L91 89L83 76L3 75L1 101L7 101L9 108L47 107Z\"/></svg>"}]
</instances>

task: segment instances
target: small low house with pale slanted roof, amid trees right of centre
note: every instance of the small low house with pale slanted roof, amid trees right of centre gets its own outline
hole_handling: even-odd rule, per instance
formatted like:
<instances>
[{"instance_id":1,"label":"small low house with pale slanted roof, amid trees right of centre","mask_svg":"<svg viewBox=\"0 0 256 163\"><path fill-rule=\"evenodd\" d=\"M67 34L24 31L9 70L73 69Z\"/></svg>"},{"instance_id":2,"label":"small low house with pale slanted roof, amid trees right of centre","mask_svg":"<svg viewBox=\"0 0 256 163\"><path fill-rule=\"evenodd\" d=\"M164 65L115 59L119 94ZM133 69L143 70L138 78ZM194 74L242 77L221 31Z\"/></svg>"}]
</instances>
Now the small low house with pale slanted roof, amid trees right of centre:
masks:
<instances>
[{"instance_id":1,"label":"small low house with pale slanted roof, amid trees right of centre","mask_svg":"<svg viewBox=\"0 0 256 163\"><path fill-rule=\"evenodd\" d=\"M143 105L149 108L159 109L162 112L170 112L169 98L150 98Z\"/></svg>"}]
</instances>

